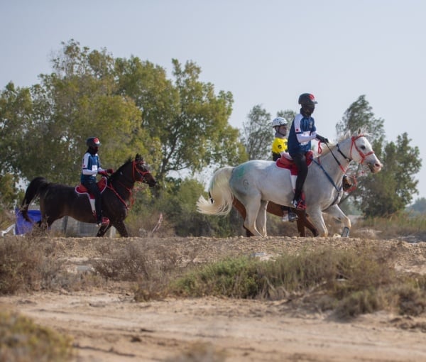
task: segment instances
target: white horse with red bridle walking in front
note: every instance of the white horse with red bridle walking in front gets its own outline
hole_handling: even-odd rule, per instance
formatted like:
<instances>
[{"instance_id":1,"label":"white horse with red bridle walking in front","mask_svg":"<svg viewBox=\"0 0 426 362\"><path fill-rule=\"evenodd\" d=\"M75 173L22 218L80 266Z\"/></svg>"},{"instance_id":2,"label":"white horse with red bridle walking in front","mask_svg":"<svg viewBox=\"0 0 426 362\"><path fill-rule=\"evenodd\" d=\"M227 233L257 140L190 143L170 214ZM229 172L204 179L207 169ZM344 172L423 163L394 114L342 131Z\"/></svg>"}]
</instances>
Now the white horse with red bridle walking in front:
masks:
<instances>
[{"instance_id":1,"label":"white horse with red bridle walking in front","mask_svg":"<svg viewBox=\"0 0 426 362\"><path fill-rule=\"evenodd\" d=\"M327 226L322 212L342 221L342 236L349 236L351 221L337 205L342 197L342 177L351 161L366 165L371 172L379 172L381 162L371 144L361 134L348 136L337 145L329 146L322 155L315 157L309 166L303 191L306 212L320 236L327 236ZM244 226L255 236L266 236L266 207L268 201L291 206L294 192L290 171L279 168L274 161L250 160L236 167L220 168L209 185L210 200L200 196L198 212L226 215L232 207L235 195L246 207Z\"/></svg>"}]
</instances>

